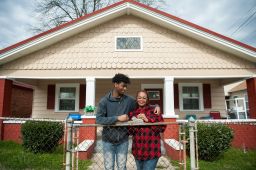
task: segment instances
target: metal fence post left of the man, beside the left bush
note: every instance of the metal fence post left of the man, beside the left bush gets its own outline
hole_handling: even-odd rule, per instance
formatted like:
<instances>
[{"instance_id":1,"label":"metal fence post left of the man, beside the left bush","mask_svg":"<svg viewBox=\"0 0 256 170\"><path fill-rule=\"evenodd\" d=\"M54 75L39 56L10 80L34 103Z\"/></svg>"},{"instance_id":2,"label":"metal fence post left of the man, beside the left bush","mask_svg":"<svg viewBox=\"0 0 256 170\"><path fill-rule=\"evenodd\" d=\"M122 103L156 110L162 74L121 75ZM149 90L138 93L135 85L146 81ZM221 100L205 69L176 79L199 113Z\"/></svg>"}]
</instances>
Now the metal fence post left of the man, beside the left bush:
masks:
<instances>
[{"instance_id":1,"label":"metal fence post left of the man, beside the left bush","mask_svg":"<svg viewBox=\"0 0 256 170\"><path fill-rule=\"evenodd\" d=\"M71 168L71 152L72 152L72 126L73 119L67 119L67 148L66 148L66 170Z\"/></svg>"}]
</instances>

